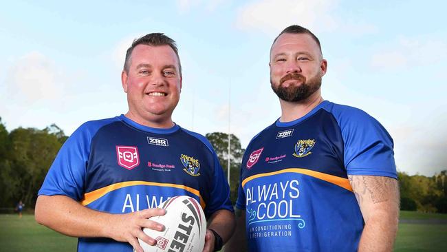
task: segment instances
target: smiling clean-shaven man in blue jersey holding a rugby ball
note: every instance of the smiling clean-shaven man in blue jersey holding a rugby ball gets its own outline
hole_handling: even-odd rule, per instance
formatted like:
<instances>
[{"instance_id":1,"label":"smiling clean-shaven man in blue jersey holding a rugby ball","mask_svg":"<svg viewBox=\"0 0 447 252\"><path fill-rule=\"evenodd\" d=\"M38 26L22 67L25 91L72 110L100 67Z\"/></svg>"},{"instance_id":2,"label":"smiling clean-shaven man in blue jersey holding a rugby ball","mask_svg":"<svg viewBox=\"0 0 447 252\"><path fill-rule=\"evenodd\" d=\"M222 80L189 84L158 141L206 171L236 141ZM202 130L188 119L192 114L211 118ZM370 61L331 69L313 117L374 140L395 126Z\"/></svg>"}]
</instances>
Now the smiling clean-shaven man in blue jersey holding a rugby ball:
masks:
<instances>
[{"instance_id":1,"label":"smiling clean-shaven man in blue jersey holding a rugby ball","mask_svg":"<svg viewBox=\"0 0 447 252\"><path fill-rule=\"evenodd\" d=\"M204 251L221 249L235 228L230 189L208 140L171 118L182 88L175 41L161 33L133 41L121 81L129 111L67 139L39 191L37 222L79 237L78 251L142 252L138 238L156 244L142 229L164 229L148 220L164 215L156 207L186 195L208 220Z\"/></svg>"}]
</instances>

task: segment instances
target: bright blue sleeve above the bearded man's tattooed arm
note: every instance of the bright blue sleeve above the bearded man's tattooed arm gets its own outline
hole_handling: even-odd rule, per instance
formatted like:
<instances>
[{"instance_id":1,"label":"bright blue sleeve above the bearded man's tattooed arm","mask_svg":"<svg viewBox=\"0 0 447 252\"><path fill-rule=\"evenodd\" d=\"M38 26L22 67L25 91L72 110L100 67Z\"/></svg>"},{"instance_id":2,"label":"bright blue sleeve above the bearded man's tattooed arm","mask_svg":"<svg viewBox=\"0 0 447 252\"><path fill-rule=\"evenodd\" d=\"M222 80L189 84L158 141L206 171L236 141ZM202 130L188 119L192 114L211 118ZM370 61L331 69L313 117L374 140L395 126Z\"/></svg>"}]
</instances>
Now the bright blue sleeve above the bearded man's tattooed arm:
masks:
<instances>
[{"instance_id":1,"label":"bright blue sleeve above the bearded man's tattooed arm","mask_svg":"<svg viewBox=\"0 0 447 252\"><path fill-rule=\"evenodd\" d=\"M347 106L336 117L345 143L347 174L397 178L393 139L378 120Z\"/></svg>"}]
</instances>

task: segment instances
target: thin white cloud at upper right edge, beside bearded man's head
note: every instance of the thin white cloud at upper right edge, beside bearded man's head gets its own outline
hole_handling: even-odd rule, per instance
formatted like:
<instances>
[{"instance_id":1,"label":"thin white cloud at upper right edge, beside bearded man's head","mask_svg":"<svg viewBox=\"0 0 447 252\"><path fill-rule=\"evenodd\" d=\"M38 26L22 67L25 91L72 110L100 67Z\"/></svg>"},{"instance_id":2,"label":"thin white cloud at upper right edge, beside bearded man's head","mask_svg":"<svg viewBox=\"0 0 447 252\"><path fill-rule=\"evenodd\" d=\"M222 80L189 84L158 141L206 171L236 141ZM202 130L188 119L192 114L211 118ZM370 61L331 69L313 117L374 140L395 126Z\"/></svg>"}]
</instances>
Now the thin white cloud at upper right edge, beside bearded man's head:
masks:
<instances>
[{"instance_id":1,"label":"thin white cloud at upper right edge, beside bearded man's head","mask_svg":"<svg viewBox=\"0 0 447 252\"><path fill-rule=\"evenodd\" d=\"M383 70L435 64L447 56L445 41L401 38L392 48L371 57L371 66Z\"/></svg>"}]
</instances>

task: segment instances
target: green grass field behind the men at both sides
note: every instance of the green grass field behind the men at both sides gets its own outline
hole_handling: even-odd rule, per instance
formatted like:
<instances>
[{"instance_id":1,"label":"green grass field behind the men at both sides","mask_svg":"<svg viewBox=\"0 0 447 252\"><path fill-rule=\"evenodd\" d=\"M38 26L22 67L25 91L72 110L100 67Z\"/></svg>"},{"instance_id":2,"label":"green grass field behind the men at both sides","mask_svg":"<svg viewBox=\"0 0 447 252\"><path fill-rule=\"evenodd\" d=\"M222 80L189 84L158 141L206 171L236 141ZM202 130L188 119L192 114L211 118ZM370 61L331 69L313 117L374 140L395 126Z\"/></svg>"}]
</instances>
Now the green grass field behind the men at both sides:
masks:
<instances>
[{"instance_id":1,"label":"green grass field behind the men at both sides","mask_svg":"<svg viewBox=\"0 0 447 252\"><path fill-rule=\"evenodd\" d=\"M422 223L399 224L395 251L447 251L447 224L424 224L424 220L447 220L446 214L402 211L401 220L422 220ZM37 224L34 216L0 215L0 251L76 251L76 238L56 233Z\"/></svg>"}]
</instances>

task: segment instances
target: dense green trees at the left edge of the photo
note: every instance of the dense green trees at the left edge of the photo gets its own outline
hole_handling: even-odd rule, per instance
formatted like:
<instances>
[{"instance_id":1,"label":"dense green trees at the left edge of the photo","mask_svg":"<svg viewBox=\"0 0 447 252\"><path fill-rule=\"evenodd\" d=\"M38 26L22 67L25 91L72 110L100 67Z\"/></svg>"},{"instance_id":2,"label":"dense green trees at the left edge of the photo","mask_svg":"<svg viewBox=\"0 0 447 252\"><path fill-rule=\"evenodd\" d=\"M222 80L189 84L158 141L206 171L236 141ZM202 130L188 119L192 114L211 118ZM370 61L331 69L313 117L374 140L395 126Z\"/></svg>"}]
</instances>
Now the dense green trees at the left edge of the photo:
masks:
<instances>
[{"instance_id":1,"label":"dense green trees at the left edge of the photo","mask_svg":"<svg viewBox=\"0 0 447 252\"><path fill-rule=\"evenodd\" d=\"M22 200L25 205L33 206L36 193L66 136L52 125L43 130L19 127L12 130L6 140L2 138L0 126L1 144L6 149L0 160L0 204L13 207Z\"/></svg>"}]
</instances>

